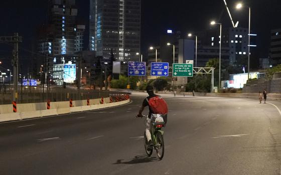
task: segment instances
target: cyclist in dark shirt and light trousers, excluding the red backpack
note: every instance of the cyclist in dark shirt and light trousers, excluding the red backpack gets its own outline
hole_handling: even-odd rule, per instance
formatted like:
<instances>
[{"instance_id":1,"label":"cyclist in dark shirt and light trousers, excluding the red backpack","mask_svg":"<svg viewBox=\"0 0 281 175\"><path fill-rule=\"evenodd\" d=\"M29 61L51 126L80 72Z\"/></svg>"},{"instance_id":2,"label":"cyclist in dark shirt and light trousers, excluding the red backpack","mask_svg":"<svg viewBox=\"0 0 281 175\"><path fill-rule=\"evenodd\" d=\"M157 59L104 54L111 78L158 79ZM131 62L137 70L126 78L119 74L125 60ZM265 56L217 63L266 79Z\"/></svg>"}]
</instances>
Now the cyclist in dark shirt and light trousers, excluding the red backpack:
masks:
<instances>
[{"instance_id":1,"label":"cyclist in dark shirt and light trousers, excluding the red backpack","mask_svg":"<svg viewBox=\"0 0 281 175\"><path fill-rule=\"evenodd\" d=\"M150 85L147 86L146 90L147 90L147 93L149 94L149 96L144 99L143 105L142 105L141 109L139 109L137 117L142 117L143 116L142 112L144 111L145 107L149 106L149 118L151 119L151 115L154 114L155 112L153 111L152 107L150 106L149 100L151 98L153 98L153 97L160 97L160 96L156 95L154 93L154 89ZM163 119L164 119L164 122L166 124L167 123L167 114L164 115ZM151 133L150 133L151 128L152 128L152 122L151 122L151 120L147 120L147 123L146 123L146 136L147 136L147 139L148 139L148 149L152 149L153 148L153 142L152 142Z\"/></svg>"}]
</instances>

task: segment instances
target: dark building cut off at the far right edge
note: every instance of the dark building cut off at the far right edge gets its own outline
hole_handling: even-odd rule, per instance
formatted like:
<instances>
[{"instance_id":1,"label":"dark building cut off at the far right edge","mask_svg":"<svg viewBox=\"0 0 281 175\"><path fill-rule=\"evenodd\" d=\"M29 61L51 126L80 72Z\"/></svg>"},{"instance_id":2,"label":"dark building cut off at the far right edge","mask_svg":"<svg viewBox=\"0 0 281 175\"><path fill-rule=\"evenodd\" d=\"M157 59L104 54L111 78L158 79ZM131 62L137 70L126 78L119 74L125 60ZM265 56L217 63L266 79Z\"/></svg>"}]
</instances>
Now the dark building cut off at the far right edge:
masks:
<instances>
[{"instance_id":1,"label":"dark building cut off at the far right edge","mask_svg":"<svg viewBox=\"0 0 281 175\"><path fill-rule=\"evenodd\" d=\"M273 66L281 64L281 29L271 30L270 59Z\"/></svg>"}]
</instances>

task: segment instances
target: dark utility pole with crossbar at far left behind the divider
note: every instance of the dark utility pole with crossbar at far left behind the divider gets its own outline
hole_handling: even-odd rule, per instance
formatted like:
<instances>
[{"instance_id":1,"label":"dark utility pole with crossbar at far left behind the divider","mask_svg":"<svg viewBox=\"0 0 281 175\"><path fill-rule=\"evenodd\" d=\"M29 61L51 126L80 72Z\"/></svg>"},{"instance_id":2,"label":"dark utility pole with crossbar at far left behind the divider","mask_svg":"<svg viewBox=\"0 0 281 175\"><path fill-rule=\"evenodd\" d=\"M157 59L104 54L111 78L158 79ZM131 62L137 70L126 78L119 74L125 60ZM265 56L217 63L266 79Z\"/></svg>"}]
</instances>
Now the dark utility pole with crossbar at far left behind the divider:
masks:
<instances>
[{"instance_id":1,"label":"dark utility pole with crossbar at far left behind the divider","mask_svg":"<svg viewBox=\"0 0 281 175\"><path fill-rule=\"evenodd\" d=\"M12 37L0 37L0 43L14 43L13 60L14 66L14 92L13 101L18 100L18 80L19 80L19 43L23 42L23 38L19 36L19 33L14 33Z\"/></svg>"}]
</instances>

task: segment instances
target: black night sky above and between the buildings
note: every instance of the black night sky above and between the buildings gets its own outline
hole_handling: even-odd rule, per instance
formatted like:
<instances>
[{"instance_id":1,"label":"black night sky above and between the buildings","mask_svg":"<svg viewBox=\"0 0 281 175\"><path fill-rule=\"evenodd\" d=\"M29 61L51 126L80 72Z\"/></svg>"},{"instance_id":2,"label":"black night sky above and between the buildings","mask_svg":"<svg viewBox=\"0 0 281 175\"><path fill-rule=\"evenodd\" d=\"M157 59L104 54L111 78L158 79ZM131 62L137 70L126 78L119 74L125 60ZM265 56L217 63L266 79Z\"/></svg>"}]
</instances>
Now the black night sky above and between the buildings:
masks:
<instances>
[{"instance_id":1,"label":"black night sky above and between the buildings","mask_svg":"<svg viewBox=\"0 0 281 175\"><path fill-rule=\"evenodd\" d=\"M248 9L237 11L234 7L238 1L227 0L234 22L239 21L239 27L248 27ZM248 0L240 1L251 7L251 30L256 33L258 46L256 55L267 57L269 50L270 30L281 28L280 0ZM88 27L89 0L76 0L78 19ZM36 42L36 29L46 22L47 0L10 0L1 1L0 6L0 36L10 36L19 32L23 36L21 48L22 59L28 61L32 51L32 43ZM166 30L196 33L210 29L211 20L222 23L223 28L232 24L226 12L223 0L174 0L142 1L142 53L146 53L150 45L157 45L159 37ZM86 31L88 33L88 30ZM85 46L87 47L86 35ZM0 59L10 54L12 47L0 44ZM33 50L34 49L34 50ZM5 61L5 60L4 60ZM25 62L24 61L24 62ZM11 64L9 63L8 66Z\"/></svg>"}]
</instances>

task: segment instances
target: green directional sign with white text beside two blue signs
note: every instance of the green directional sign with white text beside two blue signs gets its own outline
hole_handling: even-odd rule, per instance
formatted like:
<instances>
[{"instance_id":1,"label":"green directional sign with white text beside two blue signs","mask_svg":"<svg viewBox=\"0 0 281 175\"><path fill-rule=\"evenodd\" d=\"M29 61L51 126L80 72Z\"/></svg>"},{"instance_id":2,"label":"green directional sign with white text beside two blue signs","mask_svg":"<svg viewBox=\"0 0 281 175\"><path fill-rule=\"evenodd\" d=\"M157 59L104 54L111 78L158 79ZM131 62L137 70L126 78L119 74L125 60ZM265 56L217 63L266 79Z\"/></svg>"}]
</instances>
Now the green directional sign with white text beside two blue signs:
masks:
<instances>
[{"instance_id":1,"label":"green directional sign with white text beside two blue signs","mask_svg":"<svg viewBox=\"0 0 281 175\"><path fill-rule=\"evenodd\" d=\"M193 77L193 64L173 64L174 77Z\"/></svg>"}]
</instances>

